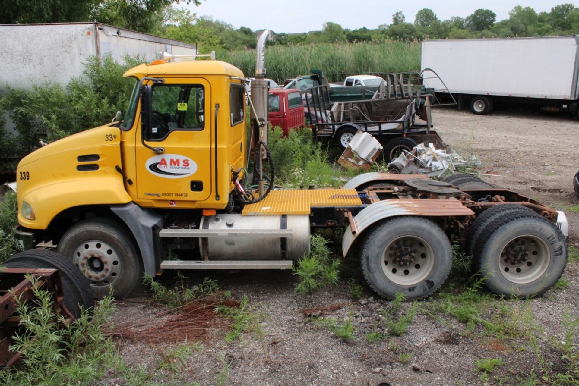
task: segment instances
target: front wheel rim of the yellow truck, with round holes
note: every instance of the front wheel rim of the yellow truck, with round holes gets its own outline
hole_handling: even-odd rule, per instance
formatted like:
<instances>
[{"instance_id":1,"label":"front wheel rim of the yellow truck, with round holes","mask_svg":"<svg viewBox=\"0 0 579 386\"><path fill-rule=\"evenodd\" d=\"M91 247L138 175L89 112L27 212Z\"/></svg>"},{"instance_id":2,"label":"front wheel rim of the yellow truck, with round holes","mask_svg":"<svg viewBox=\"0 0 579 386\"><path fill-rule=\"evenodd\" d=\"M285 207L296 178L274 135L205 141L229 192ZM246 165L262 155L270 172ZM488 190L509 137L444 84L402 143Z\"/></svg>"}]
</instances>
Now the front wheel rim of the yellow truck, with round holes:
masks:
<instances>
[{"instance_id":1,"label":"front wheel rim of the yellow truck, with round holes","mask_svg":"<svg viewBox=\"0 0 579 386\"><path fill-rule=\"evenodd\" d=\"M120 275L119 254L107 242L85 241L76 247L72 262L90 281L91 286L104 287L115 282Z\"/></svg>"}]
</instances>

